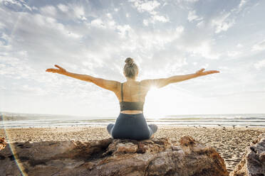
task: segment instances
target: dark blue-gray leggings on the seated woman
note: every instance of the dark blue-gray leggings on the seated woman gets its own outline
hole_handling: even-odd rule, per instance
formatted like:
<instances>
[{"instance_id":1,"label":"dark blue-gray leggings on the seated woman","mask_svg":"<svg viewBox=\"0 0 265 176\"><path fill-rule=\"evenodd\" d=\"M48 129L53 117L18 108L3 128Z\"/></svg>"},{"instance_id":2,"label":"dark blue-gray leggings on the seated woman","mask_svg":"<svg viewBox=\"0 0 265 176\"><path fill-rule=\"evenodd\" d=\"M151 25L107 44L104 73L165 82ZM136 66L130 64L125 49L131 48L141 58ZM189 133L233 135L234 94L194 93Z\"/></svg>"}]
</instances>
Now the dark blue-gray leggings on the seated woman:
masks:
<instances>
[{"instance_id":1,"label":"dark blue-gray leggings on the seated woman","mask_svg":"<svg viewBox=\"0 0 265 176\"><path fill-rule=\"evenodd\" d=\"M157 125L147 125L143 114L120 113L115 124L108 124L107 130L113 138L145 140L157 131Z\"/></svg>"}]
</instances>

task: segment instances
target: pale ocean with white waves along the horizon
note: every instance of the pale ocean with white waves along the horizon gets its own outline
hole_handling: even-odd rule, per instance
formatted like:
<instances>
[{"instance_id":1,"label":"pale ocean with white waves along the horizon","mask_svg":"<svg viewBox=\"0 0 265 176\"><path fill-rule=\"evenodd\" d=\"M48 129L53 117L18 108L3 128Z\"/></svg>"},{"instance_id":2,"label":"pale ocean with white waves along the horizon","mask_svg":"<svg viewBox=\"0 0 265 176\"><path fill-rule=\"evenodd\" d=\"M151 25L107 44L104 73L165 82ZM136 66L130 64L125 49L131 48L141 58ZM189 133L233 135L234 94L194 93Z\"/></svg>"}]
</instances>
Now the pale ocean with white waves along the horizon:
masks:
<instances>
[{"instance_id":1,"label":"pale ocean with white waves along the horizon","mask_svg":"<svg viewBox=\"0 0 265 176\"><path fill-rule=\"evenodd\" d=\"M51 114L0 112L0 128L46 128L60 126L107 126L113 117L85 117ZM145 117L147 123L172 126L249 126L265 127L265 114L195 114Z\"/></svg>"}]
</instances>

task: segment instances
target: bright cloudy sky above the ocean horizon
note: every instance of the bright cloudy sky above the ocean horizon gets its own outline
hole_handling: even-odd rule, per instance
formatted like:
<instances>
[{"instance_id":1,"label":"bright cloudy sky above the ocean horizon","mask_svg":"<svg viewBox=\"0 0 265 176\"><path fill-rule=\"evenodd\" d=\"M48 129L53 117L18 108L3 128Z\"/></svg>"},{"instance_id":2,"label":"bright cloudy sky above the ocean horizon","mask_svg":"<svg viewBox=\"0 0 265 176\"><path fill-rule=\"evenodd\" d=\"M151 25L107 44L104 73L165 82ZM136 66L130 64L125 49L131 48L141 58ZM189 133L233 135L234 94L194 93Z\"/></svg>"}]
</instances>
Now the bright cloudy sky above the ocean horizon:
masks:
<instances>
[{"instance_id":1,"label":"bright cloudy sky above the ocean horizon","mask_svg":"<svg viewBox=\"0 0 265 176\"><path fill-rule=\"evenodd\" d=\"M152 89L146 116L265 113L265 1L0 0L0 111L118 116L113 92L45 72L125 82L219 73Z\"/></svg>"}]
</instances>

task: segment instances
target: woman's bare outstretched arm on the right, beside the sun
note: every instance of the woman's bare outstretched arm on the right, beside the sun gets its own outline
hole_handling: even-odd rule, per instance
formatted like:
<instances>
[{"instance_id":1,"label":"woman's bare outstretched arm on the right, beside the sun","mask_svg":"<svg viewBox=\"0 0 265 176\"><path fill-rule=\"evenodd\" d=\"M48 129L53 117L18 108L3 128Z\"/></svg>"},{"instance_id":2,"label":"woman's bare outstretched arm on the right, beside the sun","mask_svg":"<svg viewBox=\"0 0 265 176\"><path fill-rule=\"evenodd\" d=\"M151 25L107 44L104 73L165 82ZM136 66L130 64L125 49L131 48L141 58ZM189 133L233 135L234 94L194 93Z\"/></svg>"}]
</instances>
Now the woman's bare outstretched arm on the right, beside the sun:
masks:
<instances>
[{"instance_id":1,"label":"woman's bare outstretched arm on the right, beside the sun","mask_svg":"<svg viewBox=\"0 0 265 176\"><path fill-rule=\"evenodd\" d=\"M149 85L150 87L155 86L157 88L160 88L160 87L165 87L166 85L171 84L171 83L182 82L187 79L192 79L195 77L201 77L201 76L219 72L217 70L209 70L209 71L204 72L204 70L205 69L202 68L201 70L198 70L197 72L188 74L188 75L176 75L176 76L160 78L160 79L145 79L145 80L142 80L142 82Z\"/></svg>"}]
</instances>

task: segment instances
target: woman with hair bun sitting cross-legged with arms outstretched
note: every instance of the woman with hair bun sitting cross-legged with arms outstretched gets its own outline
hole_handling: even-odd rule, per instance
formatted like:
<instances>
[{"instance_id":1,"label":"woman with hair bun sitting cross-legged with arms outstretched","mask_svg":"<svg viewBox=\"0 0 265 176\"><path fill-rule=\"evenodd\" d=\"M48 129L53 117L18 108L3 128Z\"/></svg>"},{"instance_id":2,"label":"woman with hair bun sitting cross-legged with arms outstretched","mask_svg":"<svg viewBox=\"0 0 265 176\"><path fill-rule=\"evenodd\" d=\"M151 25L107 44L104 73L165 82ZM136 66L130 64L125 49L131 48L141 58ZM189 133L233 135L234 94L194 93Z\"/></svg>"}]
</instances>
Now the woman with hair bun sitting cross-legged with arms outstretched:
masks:
<instances>
[{"instance_id":1,"label":"woman with hair bun sitting cross-legged with arms outstretched","mask_svg":"<svg viewBox=\"0 0 265 176\"><path fill-rule=\"evenodd\" d=\"M73 77L86 82L93 82L99 87L114 92L120 101L120 114L115 123L108 124L108 133L113 138L130 138L135 140L145 140L152 138L154 133L157 131L157 125L147 125L142 112L143 105L145 103L145 96L150 90L150 87L165 87L167 84L174 82L181 82L194 77L200 77L219 72L217 70L209 70L204 72L204 68L202 68L194 74L176 75L160 79L144 79L140 82L137 82L137 65L130 57L128 57L125 62L126 64L123 68L123 74L125 75L127 82L123 83L92 77L89 75L80 75L67 72L58 65L55 65L58 67L58 69L49 68L46 70L46 72L56 72L58 74Z\"/></svg>"}]
</instances>

